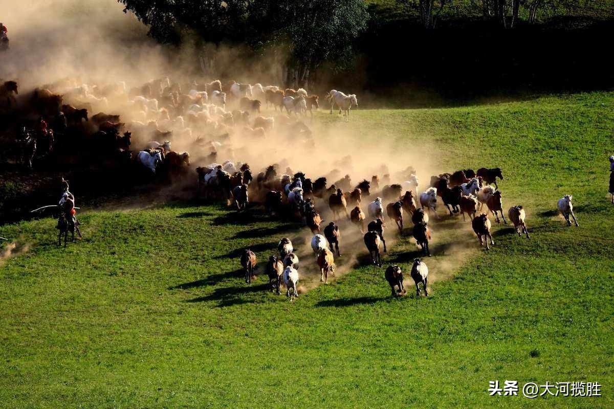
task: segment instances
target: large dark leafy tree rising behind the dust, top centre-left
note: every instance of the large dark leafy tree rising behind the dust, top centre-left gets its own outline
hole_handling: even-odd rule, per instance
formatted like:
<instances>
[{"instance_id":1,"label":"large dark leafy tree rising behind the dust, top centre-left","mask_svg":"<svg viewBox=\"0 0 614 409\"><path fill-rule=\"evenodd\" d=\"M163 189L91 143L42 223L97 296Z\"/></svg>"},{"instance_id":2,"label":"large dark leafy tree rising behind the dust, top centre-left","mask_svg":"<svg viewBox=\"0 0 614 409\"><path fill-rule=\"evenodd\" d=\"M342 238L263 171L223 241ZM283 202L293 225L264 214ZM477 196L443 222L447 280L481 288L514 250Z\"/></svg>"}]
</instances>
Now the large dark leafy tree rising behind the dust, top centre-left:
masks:
<instances>
[{"instance_id":1,"label":"large dark leafy tree rising behind the dust, top centre-left","mask_svg":"<svg viewBox=\"0 0 614 409\"><path fill-rule=\"evenodd\" d=\"M343 66L354 40L367 28L363 0L119 0L161 42L195 33L203 42L274 48L288 83L303 85L326 60Z\"/></svg>"}]
</instances>

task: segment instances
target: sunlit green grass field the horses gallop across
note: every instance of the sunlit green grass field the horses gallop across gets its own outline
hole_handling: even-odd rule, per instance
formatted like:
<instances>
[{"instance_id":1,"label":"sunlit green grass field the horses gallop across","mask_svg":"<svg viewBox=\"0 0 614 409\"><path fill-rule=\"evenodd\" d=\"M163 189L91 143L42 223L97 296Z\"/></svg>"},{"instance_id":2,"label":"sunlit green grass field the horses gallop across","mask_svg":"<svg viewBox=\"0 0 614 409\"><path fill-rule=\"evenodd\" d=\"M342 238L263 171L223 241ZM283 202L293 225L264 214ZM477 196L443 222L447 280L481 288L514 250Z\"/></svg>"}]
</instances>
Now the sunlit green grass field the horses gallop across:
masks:
<instances>
[{"instance_id":1,"label":"sunlit green grass field the horses gallop across","mask_svg":"<svg viewBox=\"0 0 614 409\"><path fill-rule=\"evenodd\" d=\"M357 110L333 125L397 140L400 155L437 143L441 169L502 167L504 207L526 207L532 239L494 226L489 253L472 237L457 257L438 245L453 223L435 224L426 262L435 277L454 268L428 298L391 299L384 270L360 266L290 303L237 271L242 248L263 264L304 233L260 213L92 210L65 250L55 220L2 226L30 248L0 266L0 407L613 407L614 93ZM580 227L554 211L567 193ZM415 254L403 237L384 266L408 272ZM491 380L597 381L603 396L490 397Z\"/></svg>"}]
</instances>

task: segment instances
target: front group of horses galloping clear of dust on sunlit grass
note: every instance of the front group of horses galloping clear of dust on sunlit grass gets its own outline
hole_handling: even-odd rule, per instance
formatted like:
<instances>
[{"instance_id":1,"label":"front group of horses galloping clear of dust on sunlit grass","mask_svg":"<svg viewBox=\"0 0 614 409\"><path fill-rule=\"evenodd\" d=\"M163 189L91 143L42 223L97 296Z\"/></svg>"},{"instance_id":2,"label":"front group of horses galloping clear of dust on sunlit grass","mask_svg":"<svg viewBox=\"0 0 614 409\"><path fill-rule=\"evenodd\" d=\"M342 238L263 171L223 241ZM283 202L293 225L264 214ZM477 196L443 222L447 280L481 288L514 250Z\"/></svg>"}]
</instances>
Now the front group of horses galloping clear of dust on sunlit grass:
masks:
<instances>
[{"instance_id":1,"label":"front group of horses galloping clear of dust on sunlit grass","mask_svg":"<svg viewBox=\"0 0 614 409\"><path fill-rule=\"evenodd\" d=\"M473 232L480 243L489 250L489 242L494 245L491 235L491 221L488 214L492 213L494 221L507 224L503 213L502 193L498 189L497 178L503 179L499 168L481 168L477 172L472 169L458 170L452 174L433 176L430 186L418 194L418 178L412 167L406 169L406 180L402 184L385 185L379 189L379 177L374 175L371 182L362 180L356 186L352 185L349 175L328 186L327 178L308 178L303 172L296 174L277 174L276 165L268 166L254 178L248 164L234 164L227 161L223 164L209 164L198 167L199 191L202 197L208 199L227 199L233 203L239 212L246 210L248 202L262 204L271 216L284 216L300 220L312 232L311 249L316 257L316 264L321 273L320 281L328 283L328 275L335 274L335 256L340 257L340 224L349 220L355 224L363 235L363 242L370 254L371 262L382 267L380 249L387 252L384 239L384 218L387 216L403 234L405 215L411 215L413 227L411 234L421 247L423 256L430 256L429 242L432 235L429 228L429 215L441 218L437 214L437 203L442 201L450 216L465 214L471 221ZM289 170L289 169L288 169ZM389 175L386 175L389 178ZM403 186L407 189L403 192ZM378 194L371 195L371 190ZM379 195L379 196L378 196ZM373 197L371 197L373 196ZM363 199L371 197L366 202L367 215L370 221L366 223L367 215L362 210ZM419 205L415 198L419 197ZM387 199L387 202L386 202ZM569 222L573 217L571 196L565 196L559 201L559 210ZM484 205L487 212L481 212ZM318 207L328 207L333 221L322 229L322 217ZM327 210L322 208L322 210ZM385 212L385 213L384 213ZM513 223L519 236L526 235L530 239L525 218L526 213L521 205L514 205L507 211L508 219ZM366 229L365 229L366 223ZM577 222L576 222L577 225ZM323 233L323 234L322 234ZM279 254L271 254L266 262L265 271L269 278L271 291L281 292L281 282L286 285L286 295L296 297L298 285L298 256L289 238L284 237L278 243ZM254 278L254 268L257 256L249 248L241 255L241 268L246 283ZM414 259L411 277L416 284L416 294L427 292L428 267L419 258ZM392 295L405 293L402 270L397 265L387 267L384 274L391 286Z\"/></svg>"}]
</instances>

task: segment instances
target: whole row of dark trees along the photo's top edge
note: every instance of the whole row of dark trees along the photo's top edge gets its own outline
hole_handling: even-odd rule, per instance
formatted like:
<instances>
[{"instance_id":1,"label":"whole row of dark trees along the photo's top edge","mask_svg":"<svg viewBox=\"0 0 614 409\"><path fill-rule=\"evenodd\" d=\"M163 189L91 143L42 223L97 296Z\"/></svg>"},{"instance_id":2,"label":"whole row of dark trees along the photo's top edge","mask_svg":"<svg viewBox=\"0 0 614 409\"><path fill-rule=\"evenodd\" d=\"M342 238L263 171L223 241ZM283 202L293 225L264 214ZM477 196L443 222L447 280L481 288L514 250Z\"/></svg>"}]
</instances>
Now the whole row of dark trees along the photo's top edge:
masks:
<instances>
[{"instance_id":1,"label":"whole row of dark trees along the photo's top edge","mask_svg":"<svg viewBox=\"0 0 614 409\"><path fill-rule=\"evenodd\" d=\"M357 39L377 18L365 0L118 0L125 12L149 27L149 35L165 44L195 38L207 44L246 44L255 55L272 55L283 67L286 86L303 86L323 63L348 67ZM395 0L406 15L419 16L434 29L442 13L457 1L480 10L502 28L514 28L519 15L535 22L538 10L566 2L591 0ZM214 52L201 53L201 66L212 66Z\"/></svg>"}]
</instances>

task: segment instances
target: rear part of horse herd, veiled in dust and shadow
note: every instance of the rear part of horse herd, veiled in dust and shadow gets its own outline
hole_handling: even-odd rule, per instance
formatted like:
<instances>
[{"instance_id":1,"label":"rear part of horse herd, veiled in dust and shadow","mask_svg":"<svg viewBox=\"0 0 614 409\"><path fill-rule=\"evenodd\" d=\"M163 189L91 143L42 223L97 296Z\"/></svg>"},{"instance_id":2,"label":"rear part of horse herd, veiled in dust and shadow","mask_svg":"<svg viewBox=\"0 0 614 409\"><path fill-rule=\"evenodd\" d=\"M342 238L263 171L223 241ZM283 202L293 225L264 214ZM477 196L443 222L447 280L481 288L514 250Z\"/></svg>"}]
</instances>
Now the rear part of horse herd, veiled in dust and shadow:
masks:
<instances>
[{"instance_id":1,"label":"rear part of horse herd, veiled in dust and shadow","mask_svg":"<svg viewBox=\"0 0 614 409\"><path fill-rule=\"evenodd\" d=\"M216 159L229 138L254 143L273 129L309 147L313 137L303 118L308 112L313 117L319 107L319 96L303 88L236 82L222 86L220 80L174 82L168 77L133 88L125 82L64 78L20 91L17 82L0 80L0 140L5 159L12 153L17 164L29 169L42 163L89 167L94 162L114 167L137 164L155 174L158 168L177 170L189 164L188 151L206 151ZM358 104L356 95L335 90L325 99L331 112L338 106L346 118ZM274 116L260 115L265 104L273 107ZM157 141L162 143L152 146ZM171 151L169 141L184 151Z\"/></svg>"}]
</instances>

